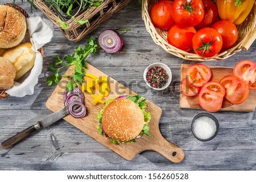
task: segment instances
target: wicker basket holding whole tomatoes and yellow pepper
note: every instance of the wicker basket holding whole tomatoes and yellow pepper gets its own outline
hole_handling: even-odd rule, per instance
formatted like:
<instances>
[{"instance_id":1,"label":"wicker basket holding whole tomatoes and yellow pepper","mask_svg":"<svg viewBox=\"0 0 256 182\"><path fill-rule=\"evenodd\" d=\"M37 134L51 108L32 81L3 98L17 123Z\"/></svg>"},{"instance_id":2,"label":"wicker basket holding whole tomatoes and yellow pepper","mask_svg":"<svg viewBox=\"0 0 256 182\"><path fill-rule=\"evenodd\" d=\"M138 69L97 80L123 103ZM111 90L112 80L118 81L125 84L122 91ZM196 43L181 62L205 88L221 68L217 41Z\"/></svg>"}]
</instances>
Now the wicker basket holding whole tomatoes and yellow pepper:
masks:
<instances>
[{"instance_id":1,"label":"wicker basket holding whole tomatoes and yellow pepper","mask_svg":"<svg viewBox=\"0 0 256 182\"><path fill-rule=\"evenodd\" d=\"M156 28L150 19L150 11L152 6L158 0L143 0L142 1L142 18L145 22L146 29L150 33L152 39L155 41L157 45L162 46L164 50L168 53L173 54L179 58L183 58L184 60L191 61L215 61L222 60L232 56L233 54L240 52L240 50L249 49L250 45L253 43L256 37L256 28L255 28L255 16L256 16L256 4L254 4L253 9L250 14L247 16L246 20L237 26L238 29L238 40L237 43L228 50L224 52L218 53L214 57L205 58L197 55L195 52L185 52L183 50L175 48L168 44L167 41L167 31Z\"/></svg>"}]
</instances>

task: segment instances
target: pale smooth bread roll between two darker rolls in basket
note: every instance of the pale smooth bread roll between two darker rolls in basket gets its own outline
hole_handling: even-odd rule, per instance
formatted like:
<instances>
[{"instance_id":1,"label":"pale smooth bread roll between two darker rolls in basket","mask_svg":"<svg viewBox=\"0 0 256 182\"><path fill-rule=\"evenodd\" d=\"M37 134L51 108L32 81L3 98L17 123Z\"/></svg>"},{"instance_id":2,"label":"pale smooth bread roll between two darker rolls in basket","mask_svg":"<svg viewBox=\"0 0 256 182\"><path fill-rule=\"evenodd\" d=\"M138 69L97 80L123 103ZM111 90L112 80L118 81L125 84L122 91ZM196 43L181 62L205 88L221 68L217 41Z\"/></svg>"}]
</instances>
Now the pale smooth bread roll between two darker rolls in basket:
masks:
<instances>
[{"instance_id":1,"label":"pale smooth bread roll between two darker rolls in basket","mask_svg":"<svg viewBox=\"0 0 256 182\"><path fill-rule=\"evenodd\" d=\"M16 70L16 81L34 66L36 53L32 50L31 43L20 43L14 48L8 49L3 57L13 63Z\"/></svg>"}]
</instances>

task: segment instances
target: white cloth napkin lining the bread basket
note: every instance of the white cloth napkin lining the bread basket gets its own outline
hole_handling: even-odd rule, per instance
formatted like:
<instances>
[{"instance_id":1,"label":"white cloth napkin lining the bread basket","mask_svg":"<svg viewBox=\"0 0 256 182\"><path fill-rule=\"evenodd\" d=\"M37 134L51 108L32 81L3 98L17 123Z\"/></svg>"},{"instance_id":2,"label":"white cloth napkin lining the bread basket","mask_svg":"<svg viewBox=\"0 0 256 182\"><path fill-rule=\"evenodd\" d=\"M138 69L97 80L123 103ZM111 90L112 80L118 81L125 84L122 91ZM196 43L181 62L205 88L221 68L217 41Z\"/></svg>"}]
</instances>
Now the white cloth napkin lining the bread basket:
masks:
<instances>
[{"instance_id":1,"label":"white cloth napkin lining the bread basket","mask_svg":"<svg viewBox=\"0 0 256 182\"><path fill-rule=\"evenodd\" d=\"M26 21L29 37L23 41L31 41L33 44L32 49L36 52L35 64L31 71L16 81L13 87L6 90L10 96L23 97L34 94L34 87L38 83L43 67L42 54L38 52L38 49L49 43L53 37L53 23L50 20L36 16L27 18Z\"/></svg>"}]
</instances>

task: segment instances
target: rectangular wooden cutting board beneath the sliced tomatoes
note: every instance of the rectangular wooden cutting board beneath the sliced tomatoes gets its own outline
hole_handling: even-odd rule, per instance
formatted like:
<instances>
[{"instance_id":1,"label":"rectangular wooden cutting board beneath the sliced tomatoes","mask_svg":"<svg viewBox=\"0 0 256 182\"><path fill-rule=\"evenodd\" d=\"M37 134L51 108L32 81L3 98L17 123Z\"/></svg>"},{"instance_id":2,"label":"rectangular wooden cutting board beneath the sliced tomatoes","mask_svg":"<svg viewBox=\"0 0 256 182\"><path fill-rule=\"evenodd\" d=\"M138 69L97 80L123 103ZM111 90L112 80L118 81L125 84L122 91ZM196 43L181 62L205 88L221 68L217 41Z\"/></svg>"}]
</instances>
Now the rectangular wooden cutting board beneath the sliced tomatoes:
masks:
<instances>
[{"instance_id":1,"label":"rectangular wooden cutting board beneath the sliced tomatoes","mask_svg":"<svg viewBox=\"0 0 256 182\"><path fill-rule=\"evenodd\" d=\"M185 78L188 67L191 65L181 64L180 68L180 80ZM210 81L219 82L221 78L226 75L233 74L232 67L219 67L209 66L212 71L212 78ZM234 111L234 112L253 112L256 105L256 90L250 90L249 96L242 104L231 104L226 98L224 98L220 111ZM180 94L180 108L181 109L202 109L198 103L198 96L188 97L184 94Z\"/></svg>"}]
</instances>

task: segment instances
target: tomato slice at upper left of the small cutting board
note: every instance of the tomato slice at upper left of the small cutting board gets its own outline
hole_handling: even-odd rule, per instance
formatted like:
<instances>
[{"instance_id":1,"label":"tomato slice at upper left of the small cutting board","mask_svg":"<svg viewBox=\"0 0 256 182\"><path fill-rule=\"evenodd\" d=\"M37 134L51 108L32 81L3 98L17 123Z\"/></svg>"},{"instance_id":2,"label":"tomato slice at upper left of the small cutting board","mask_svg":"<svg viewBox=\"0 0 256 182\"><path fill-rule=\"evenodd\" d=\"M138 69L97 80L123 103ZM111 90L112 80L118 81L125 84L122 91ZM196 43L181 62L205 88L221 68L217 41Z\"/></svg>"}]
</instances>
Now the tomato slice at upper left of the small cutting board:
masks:
<instances>
[{"instance_id":1,"label":"tomato slice at upper left of the small cutting board","mask_svg":"<svg viewBox=\"0 0 256 182\"><path fill-rule=\"evenodd\" d=\"M195 64L188 67L186 77L192 86L201 87L210 80L212 71L207 65Z\"/></svg>"}]
</instances>

